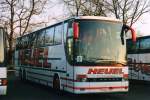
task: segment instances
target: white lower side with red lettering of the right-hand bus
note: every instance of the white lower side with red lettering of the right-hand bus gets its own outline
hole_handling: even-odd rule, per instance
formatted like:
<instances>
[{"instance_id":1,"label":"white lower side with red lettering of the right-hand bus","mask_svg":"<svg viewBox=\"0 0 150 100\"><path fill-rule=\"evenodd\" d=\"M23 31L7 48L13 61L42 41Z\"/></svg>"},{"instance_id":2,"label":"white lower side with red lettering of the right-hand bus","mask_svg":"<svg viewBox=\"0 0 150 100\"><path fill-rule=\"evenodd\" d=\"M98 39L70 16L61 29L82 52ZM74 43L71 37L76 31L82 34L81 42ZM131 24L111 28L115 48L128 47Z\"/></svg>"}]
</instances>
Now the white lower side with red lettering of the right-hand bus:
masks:
<instances>
[{"instance_id":1,"label":"white lower side with red lettering of the right-hand bus","mask_svg":"<svg viewBox=\"0 0 150 100\"><path fill-rule=\"evenodd\" d=\"M129 78L134 80L150 81L150 54L128 54Z\"/></svg>"}]
</instances>

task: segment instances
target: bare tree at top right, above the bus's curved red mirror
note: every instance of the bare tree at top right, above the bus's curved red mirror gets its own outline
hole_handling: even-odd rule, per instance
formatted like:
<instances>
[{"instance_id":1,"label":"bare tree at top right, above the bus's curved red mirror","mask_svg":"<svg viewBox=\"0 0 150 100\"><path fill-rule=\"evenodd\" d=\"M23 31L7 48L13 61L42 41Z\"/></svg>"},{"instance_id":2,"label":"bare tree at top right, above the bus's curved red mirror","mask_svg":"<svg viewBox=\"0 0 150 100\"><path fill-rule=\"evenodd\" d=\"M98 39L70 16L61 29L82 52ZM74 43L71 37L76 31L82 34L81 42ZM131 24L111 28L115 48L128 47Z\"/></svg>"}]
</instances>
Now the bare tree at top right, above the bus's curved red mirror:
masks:
<instances>
[{"instance_id":1,"label":"bare tree at top right, above the bus's curved red mirror","mask_svg":"<svg viewBox=\"0 0 150 100\"><path fill-rule=\"evenodd\" d=\"M123 23L132 26L143 14L150 12L150 0L106 0L105 7Z\"/></svg>"}]
</instances>

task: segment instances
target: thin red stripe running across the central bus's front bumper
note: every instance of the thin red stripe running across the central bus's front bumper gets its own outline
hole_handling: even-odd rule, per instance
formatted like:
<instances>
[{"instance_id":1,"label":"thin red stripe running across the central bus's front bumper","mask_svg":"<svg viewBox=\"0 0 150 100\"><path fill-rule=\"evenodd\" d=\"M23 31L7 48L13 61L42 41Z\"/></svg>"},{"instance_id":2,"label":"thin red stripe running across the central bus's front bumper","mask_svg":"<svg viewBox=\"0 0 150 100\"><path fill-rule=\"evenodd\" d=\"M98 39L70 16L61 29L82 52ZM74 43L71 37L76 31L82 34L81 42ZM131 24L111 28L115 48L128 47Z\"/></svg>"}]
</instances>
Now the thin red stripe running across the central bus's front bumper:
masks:
<instances>
[{"instance_id":1,"label":"thin red stripe running across the central bus's front bumper","mask_svg":"<svg viewBox=\"0 0 150 100\"><path fill-rule=\"evenodd\" d=\"M71 89L75 89L75 90L80 90L80 89L86 89L86 90L97 90L97 89L121 89L121 88L125 88L127 89L128 86L113 86L113 87L73 87L73 86L69 86L69 85L63 85L65 87L71 88Z\"/></svg>"}]
</instances>

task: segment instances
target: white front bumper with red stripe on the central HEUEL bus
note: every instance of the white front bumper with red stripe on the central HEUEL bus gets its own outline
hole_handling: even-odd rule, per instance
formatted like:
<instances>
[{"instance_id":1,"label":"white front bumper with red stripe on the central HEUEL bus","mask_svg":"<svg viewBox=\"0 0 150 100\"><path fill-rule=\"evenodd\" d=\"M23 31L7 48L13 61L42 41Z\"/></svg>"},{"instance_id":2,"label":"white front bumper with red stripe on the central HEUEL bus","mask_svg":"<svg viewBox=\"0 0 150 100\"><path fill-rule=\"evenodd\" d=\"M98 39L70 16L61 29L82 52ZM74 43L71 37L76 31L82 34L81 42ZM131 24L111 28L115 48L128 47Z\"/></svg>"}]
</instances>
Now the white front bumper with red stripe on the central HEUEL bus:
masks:
<instances>
[{"instance_id":1,"label":"white front bumper with red stripe on the central HEUEL bus","mask_svg":"<svg viewBox=\"0 0 150 100\"><path fill-rule=\"evenodd\" d=\"M76 84L74 87L75 94L88 93L127 93L128 82L114 82L114 83L96 83L92 84Z\"/></svg>"}]
</instances>

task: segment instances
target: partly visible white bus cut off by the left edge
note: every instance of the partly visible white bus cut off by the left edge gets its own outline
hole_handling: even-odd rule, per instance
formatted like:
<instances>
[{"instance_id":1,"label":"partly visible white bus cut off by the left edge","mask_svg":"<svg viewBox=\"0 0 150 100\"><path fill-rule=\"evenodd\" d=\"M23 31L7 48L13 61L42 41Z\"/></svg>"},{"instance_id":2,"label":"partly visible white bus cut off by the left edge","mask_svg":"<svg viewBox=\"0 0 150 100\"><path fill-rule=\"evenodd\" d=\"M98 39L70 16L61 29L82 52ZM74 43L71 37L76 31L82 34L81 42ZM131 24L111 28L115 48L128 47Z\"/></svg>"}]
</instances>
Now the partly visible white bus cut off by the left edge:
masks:
<instances>
[{"instance_id":1,"label":"partly visible white bus cut off by the left edge","mask_svg":"<svg viewBox=\"0 0 150 100\"><path fill-rule=\"evenodd\" d=\"M7 92L7 68L6 68L6 42L5 31L0 27L0 95L6 95Z\"/></svg>"}]
</instances>

